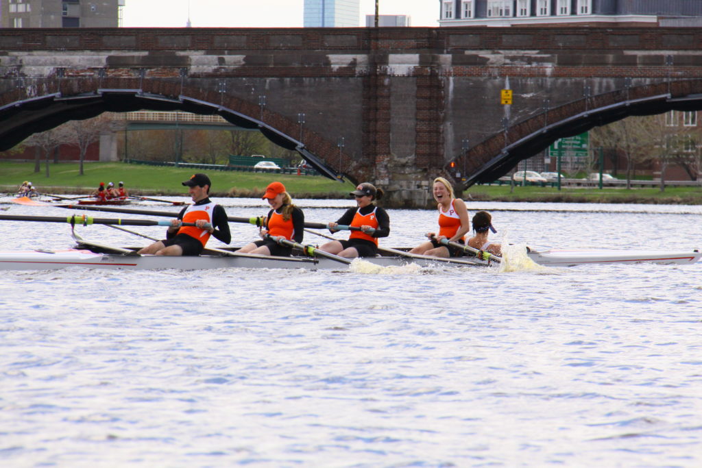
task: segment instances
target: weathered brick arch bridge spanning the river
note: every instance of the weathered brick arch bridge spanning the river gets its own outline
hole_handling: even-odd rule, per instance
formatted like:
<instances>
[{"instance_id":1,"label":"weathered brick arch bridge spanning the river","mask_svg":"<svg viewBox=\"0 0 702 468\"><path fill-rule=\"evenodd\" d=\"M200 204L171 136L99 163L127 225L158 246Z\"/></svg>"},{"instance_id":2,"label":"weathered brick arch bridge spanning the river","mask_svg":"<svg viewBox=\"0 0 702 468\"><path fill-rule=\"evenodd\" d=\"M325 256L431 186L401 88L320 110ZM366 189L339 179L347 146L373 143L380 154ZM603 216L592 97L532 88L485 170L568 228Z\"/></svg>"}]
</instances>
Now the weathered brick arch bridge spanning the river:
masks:
<instances>
[{"instance_id":1,"label":"weathered brick arch bridge spanning the river","mask_svg":"<svg viewBox=\"0 0 702 468\"><path fill-rule=\"evenodd\" d=\"M3 29L0 146L107 109L218 113L424 206L431 178L460 185L451 161L470 185L564 135L700 108L701 65L699 28Z\"/></svg>"}]
</instances>

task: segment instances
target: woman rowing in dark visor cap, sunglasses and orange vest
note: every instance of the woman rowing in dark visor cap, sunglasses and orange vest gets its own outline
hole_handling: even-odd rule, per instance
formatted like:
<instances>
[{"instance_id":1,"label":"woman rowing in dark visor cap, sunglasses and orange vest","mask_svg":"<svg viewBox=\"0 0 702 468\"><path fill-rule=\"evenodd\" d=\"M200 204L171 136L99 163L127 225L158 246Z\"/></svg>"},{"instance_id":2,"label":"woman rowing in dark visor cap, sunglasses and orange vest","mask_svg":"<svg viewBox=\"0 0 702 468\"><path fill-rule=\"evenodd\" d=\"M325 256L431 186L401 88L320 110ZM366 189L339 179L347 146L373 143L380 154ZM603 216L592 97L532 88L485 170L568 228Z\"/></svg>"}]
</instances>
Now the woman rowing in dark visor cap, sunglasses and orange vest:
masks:
<instances>
[{"instance_id":1,"label":"woman rowing in dark visor cap, sunglasses and orange vest","mask_svg":"<svg viewBox=\"0 0 702 468\"><path fill-rule=\"evenodd\" d=\"M331 232L338 232L340 229L336 227L339 225L355 229L351 229L347 241L327 242L319 250L345 258L374 257L378 252L378 238L390 234L390 216L373 203L383 198L383 189L364 182L350 194L355 196L357 206L346 210L341 218L330 222L327 227Z\"/></svg>"}]
</instances>

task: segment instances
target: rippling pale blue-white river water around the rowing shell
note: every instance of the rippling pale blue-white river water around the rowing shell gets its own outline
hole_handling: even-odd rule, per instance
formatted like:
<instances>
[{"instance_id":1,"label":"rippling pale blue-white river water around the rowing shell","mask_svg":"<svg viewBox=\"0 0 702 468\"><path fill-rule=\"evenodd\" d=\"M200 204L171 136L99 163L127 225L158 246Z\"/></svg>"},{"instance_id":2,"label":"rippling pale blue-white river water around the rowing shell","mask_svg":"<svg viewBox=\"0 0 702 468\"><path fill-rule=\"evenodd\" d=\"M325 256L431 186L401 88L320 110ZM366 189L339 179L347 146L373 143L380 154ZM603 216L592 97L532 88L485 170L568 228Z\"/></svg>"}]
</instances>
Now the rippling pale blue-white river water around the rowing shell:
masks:
<instances>
[{"instance_id":1,"label":"rippling pale blue-white river water around the rowing shell","mask_svg":"<svg viewBox=\"0 0 702 468\"><path fill-rule=\"evenodd\" d=\"M299 203L326 222L352 202ZM468 207L517 246L702 247L698 206ZM410 246L436 213L390 218L383 245ZM0 236L72 245L65 225ZM701 466L702 264L340 270L5 272L0 466Z\"/></svg>"}]
</instances>

